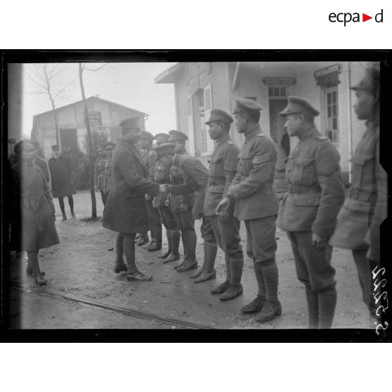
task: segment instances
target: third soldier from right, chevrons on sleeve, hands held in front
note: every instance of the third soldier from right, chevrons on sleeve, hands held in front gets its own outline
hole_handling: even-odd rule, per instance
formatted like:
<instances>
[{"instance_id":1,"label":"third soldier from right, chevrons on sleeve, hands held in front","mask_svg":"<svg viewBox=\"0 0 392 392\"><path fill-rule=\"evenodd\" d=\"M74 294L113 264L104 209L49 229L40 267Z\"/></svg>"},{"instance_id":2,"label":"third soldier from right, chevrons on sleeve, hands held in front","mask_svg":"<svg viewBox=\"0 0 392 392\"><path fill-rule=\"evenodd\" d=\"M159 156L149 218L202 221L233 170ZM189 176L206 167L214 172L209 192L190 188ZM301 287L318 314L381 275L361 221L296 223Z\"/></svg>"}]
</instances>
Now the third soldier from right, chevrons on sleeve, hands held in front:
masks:
<instances>
[{"instance_id":1,"label":"third soldier from right, chevrons on sleeve, hands held in front","mask_svg":"<svg viewBox=\"0 0 392 392\"><path fill-rule=\"evenodd\" d=\"M237 98L233 112L235 126L244 133L245 141L240 150L237 174L228 188L226 197L216 209L223 216L225 209L235 202L234 216L245 221L247 228L247 254L254 261L259 294L243 312L256 312L256 320L273 320L282 313L277 299L277 265L275 262L275 221L279 207L275 185L277 152L270 138L262 133L259 119L261 106L249 98ZM231 268L231 280L226 293L234 297L242 293L240 283L242 263ZM234 275L234 277L233 277Z\"/></svg>"}]
</instances>

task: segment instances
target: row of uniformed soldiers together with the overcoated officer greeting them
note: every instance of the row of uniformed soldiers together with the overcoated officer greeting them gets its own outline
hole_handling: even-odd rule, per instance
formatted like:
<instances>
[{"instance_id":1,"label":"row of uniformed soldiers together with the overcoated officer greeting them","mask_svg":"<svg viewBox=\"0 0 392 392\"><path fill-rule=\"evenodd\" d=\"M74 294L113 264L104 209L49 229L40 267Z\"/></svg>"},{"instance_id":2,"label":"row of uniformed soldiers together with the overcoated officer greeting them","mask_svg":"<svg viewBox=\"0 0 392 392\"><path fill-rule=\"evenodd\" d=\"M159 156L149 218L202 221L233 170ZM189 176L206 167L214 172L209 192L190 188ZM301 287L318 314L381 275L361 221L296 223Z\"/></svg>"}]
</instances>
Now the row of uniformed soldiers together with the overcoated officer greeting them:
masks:
<instances>
[{"instance_id":1,"label":"row of uniformed soldiers together with the overcoated officer greeting them","mask_svg":"<svg viewBox=\"0 0 392 392\"><path fill-rule=\"evenodd\" d=\"M287 158L289 191L282 202L274 185L277 152L261 131L262 108L256 101L237 98L234 120L223 110L211 110L206 124L216 148L208 170L187 154L185 133L159 134L152 149L154 136L141 132L133 119L124 120L124 138L113 155L113 182L103 214L103 226L119 233L115 272L126 271L128 280L152 279L136 267L134 239L137 232L143 234L150 228L152 240L147 249L161 249L161 223L169 248L161 256L163 263L180 259L182 238L184 256L175 268L179 273L196 269L194 222L202 218L204 263L190 277L195 283L214 279L216 251L221 247L226 280L211 293L221 294L222 301L233 299L242 294L240 221L244 221L258 294L241 311L257 313L259 322L273 320L282 313L275 261L277 225L287 232L296 275L306 287L309 327L329 328L334 318L337 290L332 246L353 249L363 299L370 312L379 315L371 293L372 266L380 259L379 225L386 218L386 173L379 164L379 71L367 70L353 89L358 96L355 112L367 120L367 131L353 157L353 183L345 203L339 152L316 129L314 117L319 112L304 98L289 97L280 113L289 136L299 138ZM245 136L241 149L230 140L233 121ZM142 153L135 146L139 139Z\"/></svg>"}]
</instances>

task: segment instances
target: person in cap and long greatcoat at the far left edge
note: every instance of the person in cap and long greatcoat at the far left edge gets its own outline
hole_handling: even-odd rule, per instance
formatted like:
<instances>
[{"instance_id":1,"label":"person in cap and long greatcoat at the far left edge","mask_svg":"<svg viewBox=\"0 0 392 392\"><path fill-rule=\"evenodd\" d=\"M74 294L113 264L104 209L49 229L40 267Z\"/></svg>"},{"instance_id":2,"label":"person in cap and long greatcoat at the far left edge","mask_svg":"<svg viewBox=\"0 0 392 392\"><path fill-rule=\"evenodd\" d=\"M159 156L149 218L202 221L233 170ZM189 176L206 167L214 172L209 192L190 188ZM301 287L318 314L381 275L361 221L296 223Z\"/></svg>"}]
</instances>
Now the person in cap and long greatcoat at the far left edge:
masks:
<instances>
[{"instance_id":1,"label":"person in cap and long greatcoat at the far left edge","mask_svg":"<svg viewBox=\"0 0 392 392\"><path fill-rule=\"evenodd\" d=\"M30 141L15 145L19 161L11 167L12 214L20 228L20 247L27 251L27 274L34 275L37 285L48 283L39 268L38 251L58 244L55 208L44 172L33 163L34 146Z\"/></svg>"}]
</instances>

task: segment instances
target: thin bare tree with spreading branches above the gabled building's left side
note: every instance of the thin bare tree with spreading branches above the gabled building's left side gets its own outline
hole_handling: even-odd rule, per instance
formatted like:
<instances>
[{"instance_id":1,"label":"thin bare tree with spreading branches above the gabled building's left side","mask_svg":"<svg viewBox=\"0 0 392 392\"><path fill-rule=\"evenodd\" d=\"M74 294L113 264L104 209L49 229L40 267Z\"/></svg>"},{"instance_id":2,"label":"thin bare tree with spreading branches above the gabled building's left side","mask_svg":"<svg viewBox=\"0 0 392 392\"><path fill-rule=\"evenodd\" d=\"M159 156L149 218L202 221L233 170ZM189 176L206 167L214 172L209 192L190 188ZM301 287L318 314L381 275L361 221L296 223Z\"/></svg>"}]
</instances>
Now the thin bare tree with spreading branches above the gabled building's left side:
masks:
<instances>
[{"instance_id":1,"label":"thin bare tree with spreading branches above the gabled building's left side","mask_svg":"<svg viewBox=\"0 0 392 392\"><path fill-rule=\"evenodd\" d=\"M66 98L72 84L77 79L74 75L65 73L66 66L63 64L44 63L37 64L35 67L29 67L29 71L26 70L27 76L34 84L32 93L37 96L46 94L51 102L57 144L59 144L59 135L55 108Z\"/></svg>"}]
</instances>

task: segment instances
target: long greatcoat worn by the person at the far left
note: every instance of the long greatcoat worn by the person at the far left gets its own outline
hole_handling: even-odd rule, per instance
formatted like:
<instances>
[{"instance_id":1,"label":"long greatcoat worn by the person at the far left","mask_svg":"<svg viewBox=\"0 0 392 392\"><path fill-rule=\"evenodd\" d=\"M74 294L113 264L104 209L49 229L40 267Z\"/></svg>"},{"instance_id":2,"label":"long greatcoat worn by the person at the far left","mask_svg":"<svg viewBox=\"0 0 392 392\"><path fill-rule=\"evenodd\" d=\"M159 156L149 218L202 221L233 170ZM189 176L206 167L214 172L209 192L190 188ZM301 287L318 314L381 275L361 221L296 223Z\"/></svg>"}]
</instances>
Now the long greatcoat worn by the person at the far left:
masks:
<instances>
[{"instance_id":1,"label":"long greatcoat worn by the person at the far left","mask_svg":"<svg viewBox=\"0 0 392 392\"><path fill-rule=\"evenodd\" d=\"M11 167L11 216L20 228L20 247L34 251L58 244L55 207L44 172L36 164L18 162Z\"/></svg>"}]
</instances>

